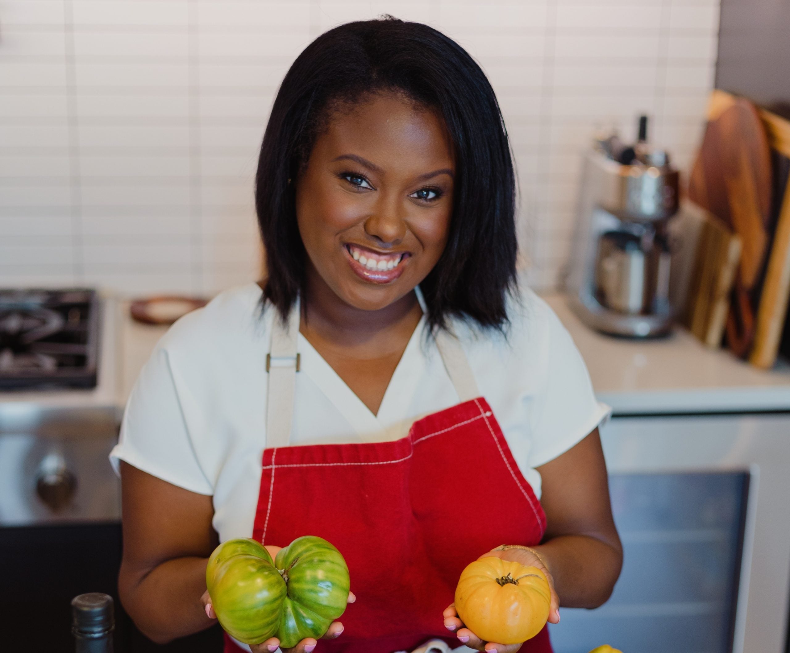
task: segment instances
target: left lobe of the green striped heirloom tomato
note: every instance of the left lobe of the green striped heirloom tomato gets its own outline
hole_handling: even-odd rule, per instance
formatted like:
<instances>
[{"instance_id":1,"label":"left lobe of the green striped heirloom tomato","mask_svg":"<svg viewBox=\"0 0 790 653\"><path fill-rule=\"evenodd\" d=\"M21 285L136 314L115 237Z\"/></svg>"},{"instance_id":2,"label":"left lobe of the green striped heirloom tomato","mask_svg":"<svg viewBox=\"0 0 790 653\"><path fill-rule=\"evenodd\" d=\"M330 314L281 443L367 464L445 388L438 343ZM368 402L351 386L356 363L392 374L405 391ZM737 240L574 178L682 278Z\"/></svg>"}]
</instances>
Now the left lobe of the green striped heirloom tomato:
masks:
<instances>
[{"instance_id":1,"label":"left lobe of the green striped heirloom tomato","mask_svg":"<svg viewBox=\"0 0 790 653\"><path fill-rule=\"evenodd\" d=\"M217 546L205 584L222 627L240 642L261 644L280 626L286 587L269 555L254 539Z\"/></svg>"}]
</instances>

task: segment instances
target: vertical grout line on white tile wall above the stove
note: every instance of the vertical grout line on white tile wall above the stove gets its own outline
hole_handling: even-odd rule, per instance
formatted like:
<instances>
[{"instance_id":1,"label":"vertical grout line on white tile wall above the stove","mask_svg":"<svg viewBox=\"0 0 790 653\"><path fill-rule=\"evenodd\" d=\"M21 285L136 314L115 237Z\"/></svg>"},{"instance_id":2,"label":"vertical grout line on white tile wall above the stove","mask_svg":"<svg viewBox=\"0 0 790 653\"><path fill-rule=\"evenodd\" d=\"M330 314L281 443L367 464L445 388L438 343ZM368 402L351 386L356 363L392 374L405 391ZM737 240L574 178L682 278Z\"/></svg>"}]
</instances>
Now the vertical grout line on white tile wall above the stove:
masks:
<instances>
[{"instance_id":1,"label":"vertical grout line on white tile wall above the stove","mask_svg":"<svg viewBox=\"0 0 790 653\"><path fill-rule=\"evenodd\" d=\"M63 65L66 68L66 124L69 152L72 283L85 283L85 244L82 229L82 180L80 166L80 119L77 107L77 73L74 69L72 0L63 0Z\"/></svg>"}]
</instances>

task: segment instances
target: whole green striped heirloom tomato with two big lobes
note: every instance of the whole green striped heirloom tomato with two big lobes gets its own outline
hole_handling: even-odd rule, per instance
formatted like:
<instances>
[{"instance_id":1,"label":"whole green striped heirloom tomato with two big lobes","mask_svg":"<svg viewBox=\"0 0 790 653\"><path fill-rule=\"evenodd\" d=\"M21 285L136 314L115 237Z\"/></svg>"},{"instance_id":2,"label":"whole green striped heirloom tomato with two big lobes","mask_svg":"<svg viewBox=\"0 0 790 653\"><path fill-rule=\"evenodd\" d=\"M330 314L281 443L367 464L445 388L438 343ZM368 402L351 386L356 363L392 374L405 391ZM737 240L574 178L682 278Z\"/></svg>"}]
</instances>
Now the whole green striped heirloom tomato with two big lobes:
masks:
<instances>
[{"instance_id":1,"label":"whole green striped heirloom tomato with two big lobes","mask_svg":"<svg viewBox=\"0 0 790 653\"><path fill-rule=\"evenodd\" d=\"M205 570L206 586L222 627L240 642L276 636L283 648L321 637L348 601L348 566L325 539L306 535L273 562L254 539L217 546Z\"/></svg>"}]
</instances>

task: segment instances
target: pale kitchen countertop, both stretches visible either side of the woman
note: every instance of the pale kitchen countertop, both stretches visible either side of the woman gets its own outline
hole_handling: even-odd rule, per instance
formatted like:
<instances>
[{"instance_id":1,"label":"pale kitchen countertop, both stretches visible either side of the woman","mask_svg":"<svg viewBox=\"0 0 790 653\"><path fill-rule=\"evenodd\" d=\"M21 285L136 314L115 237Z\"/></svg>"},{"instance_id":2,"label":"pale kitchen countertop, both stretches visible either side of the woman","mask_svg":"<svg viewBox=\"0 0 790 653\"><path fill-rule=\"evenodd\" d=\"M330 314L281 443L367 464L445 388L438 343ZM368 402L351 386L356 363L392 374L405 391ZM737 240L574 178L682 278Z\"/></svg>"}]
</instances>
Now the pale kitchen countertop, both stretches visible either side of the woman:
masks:
<instances>
[{"instance_id":1,"label":"pale kitchen countertop, both stretches visible either side of the woman","mask_svg":"<svg viewBox=\"0 0 790 653\"><path fill-rule=\"evenodd\" d=\"M660 340L604 336L581 323L564 295L544 298L573 336L596 394L615 415L790 411L787 362L773 370L758 370L728 351L707 349L680 327ZM7 409L0 412L6 418L25 405L103 408L120 415L137 374L167 327L133 321L129 302L107 301L105 311L99 387L0 393L0 404Z\"/></svg>"}]
</instances>

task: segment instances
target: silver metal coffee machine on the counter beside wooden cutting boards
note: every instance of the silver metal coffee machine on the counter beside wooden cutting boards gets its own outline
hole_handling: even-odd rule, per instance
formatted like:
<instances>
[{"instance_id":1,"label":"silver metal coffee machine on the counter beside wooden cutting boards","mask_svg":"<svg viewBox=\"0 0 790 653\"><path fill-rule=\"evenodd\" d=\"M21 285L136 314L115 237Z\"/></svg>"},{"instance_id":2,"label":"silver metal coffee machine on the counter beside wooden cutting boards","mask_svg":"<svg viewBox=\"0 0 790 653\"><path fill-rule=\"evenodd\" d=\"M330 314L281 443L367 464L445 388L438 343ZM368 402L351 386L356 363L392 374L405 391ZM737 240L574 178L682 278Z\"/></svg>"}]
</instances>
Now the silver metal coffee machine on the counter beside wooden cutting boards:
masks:
<instances>
[{"instance_id":1,"label":"silver metal coffee machine on the counter beside wooden cutting boards","mask_svg":"<svg viewBox=\"0 0 790 653\"><path fill-rule=\"evenodd\" d=\"M663 336L672 328L667 225L679 208L678 171L667 152L616 133L585 154L566 290L585 324L615 336Z\"/></svg>"}]
</instances>

